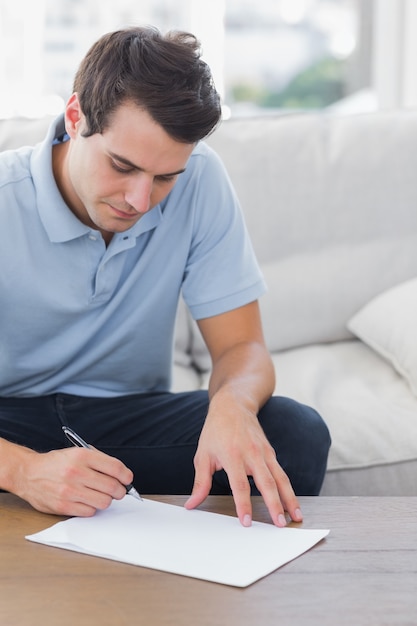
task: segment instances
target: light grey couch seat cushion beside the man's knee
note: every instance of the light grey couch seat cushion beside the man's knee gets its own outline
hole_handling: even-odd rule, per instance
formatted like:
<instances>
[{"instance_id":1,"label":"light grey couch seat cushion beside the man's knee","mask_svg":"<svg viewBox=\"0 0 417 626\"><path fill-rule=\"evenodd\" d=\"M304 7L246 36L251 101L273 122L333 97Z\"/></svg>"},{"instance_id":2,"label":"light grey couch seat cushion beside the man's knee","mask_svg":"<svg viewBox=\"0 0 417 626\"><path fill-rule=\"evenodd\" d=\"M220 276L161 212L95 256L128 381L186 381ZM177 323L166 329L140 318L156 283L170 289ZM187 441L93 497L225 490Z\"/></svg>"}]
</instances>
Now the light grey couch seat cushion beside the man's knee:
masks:
<instances>
[{"instance_id":1,"label":"light grey couch seat cushion beside the man's knee","mask_svg":"<svg viewBox=\"0 0 417 626\"><path fill-rule=\"evenodd\" d=\"M353 470L378 466L397 466L396 493L387 492L382 472L373 495L417 495L417 398L385 359L351 340L282 352L274 364L275 393L313 406L326 421L328 471L344 472L344 495L358 495ZM412 481L401 474L404 463L414 466Z\"/></svg>"}]
</instances>

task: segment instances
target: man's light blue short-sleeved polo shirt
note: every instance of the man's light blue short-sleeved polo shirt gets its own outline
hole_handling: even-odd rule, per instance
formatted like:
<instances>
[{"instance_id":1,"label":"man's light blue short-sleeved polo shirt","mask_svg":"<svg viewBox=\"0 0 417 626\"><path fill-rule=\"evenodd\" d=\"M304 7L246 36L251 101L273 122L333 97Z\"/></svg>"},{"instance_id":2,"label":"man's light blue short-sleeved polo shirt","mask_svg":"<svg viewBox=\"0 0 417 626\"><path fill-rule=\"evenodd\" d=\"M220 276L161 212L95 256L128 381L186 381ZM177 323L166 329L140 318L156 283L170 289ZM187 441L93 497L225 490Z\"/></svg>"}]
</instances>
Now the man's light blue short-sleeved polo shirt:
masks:
<instances>
[{"instance_id":1,"label":"man's light blue short-sleeved polo shirt","mask_svg":"<svg viewBox=\"0 0 417 626\"><path fill-rule=\"evenodd\" d=\"M230 181L198 144L167 198L106 248L56 186L63 130L0 154L0 395L168 390L181 290L195 319L264 291Z\"/></svg>"}]
</instances>

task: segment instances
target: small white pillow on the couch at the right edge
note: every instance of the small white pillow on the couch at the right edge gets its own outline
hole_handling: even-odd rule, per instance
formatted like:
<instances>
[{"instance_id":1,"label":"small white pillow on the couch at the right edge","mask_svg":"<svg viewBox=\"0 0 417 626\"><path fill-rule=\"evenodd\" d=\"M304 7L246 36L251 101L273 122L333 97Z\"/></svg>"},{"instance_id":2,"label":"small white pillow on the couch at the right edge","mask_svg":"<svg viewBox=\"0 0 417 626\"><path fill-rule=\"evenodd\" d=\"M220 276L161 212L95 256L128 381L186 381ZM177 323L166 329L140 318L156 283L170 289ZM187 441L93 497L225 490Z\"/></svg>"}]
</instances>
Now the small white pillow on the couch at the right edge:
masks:
<instances>
[{"instance_id":1,"label":"small white pillow on the couch at the right edge","mask_svg":"<svg viewBox=\"0 0 417 626\"><path fill-rule=\"evenodd\" d=\"M387 359L417 396L417 279L380 294L349 321L350 330Z\"/></svg>"}]
</instances>

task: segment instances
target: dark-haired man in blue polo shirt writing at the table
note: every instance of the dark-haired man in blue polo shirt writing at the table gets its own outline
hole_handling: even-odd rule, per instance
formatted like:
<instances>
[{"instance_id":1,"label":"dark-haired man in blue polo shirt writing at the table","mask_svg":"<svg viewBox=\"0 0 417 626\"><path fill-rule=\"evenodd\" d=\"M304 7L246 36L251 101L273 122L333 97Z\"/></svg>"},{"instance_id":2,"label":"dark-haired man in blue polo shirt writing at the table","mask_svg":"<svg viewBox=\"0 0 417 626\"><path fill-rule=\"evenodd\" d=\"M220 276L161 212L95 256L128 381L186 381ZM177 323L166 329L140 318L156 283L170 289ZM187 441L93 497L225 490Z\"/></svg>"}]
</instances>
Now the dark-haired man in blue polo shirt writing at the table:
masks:
<instances>
[{"instance_id":1,"label":"dark-haired man in blue polo shirt writing at the table","mask_svg":"<svg viewBox=\"0 0 417 626\"><path fill-rule=\"evenodd\" d=\"M0 159L0 488L88 516L126 494L233 493L277 526L317 494L329 434L271 398L264 284L217 156L220 118L189 34L129 28L82 61L64 117ZM208 393L169 392L182 292L208 346ZM92 449L67 447L69 426ZM279 463L277 461L277 457Z\"/></svg>"}]
</instances>

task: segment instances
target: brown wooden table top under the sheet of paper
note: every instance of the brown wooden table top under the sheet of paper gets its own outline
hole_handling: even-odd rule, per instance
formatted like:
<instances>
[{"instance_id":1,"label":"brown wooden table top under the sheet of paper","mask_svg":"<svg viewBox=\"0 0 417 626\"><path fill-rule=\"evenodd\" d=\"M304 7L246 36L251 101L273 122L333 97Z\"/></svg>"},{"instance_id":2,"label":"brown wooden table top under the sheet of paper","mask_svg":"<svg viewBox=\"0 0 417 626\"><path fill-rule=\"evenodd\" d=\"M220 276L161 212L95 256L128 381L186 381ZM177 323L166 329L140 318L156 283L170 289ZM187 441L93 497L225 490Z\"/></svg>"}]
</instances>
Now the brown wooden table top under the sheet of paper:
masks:
<instances>
[{"instance_id":1,"label":"brown wooden table top under the sheet of paper","mask_svg":"<svg viewBox=\"0 0 417 626\"><path fill-rule=\"evenodd\" d=\"M156 499L182 504L182 496ZM301 498L329 536L245 589L31 543L59 519L0 494L2 626L415 626L417 498ZM261 498L254 519L268 522ZM234 514L226 496L205 510Z\"/></svg>"}]
</instances>

